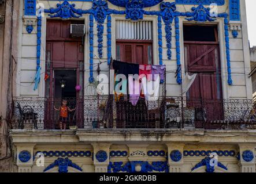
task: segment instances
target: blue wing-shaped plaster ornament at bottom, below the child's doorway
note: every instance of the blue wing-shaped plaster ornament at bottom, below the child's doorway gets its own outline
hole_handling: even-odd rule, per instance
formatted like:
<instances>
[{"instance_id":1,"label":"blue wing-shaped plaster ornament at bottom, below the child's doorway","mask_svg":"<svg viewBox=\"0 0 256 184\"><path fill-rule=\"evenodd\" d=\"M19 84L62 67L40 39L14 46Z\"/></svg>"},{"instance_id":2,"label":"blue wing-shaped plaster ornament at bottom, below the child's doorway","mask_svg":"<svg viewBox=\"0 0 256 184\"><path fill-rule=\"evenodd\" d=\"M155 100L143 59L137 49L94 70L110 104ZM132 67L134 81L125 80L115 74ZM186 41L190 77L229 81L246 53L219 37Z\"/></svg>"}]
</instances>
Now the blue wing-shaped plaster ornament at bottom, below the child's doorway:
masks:
<instances>
[{"instance_id":1,"label":"blue wing-shaped plaster ornament at bottom, below the child's doorway","mask_svg":"<svg viewBox=\"0 0 256 184\"><path fill-rule=\"evenodd\" d=\"M46 172L53 167L59 167L58 169L59 173L68 173L68 167L73 167L79 171L83 171L81 167L77 166L77 164L73 163L71 160L69 160L69 158L65 158L65 159L58 158L53 163L51 163L48 167L46 167L43 171Z\"/></svg>"}]
</instances>

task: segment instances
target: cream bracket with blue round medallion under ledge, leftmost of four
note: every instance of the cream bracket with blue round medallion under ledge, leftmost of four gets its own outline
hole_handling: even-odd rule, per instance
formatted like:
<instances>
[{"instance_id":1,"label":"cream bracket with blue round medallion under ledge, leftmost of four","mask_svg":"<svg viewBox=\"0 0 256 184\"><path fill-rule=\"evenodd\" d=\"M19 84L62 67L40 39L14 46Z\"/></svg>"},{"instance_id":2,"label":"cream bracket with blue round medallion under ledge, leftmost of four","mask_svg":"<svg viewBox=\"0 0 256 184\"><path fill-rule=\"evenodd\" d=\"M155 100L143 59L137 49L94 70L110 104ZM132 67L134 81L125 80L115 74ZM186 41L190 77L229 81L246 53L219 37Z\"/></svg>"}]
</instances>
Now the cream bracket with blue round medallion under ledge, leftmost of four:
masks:
<instances>
[{"instance_id":1,"label":"cream bracket with blue round medallion under ledge, leftmost of four","mask_svg":"<svg viewBox=\"0 0 256 184\"><path fill-rule=\"evenodd\" d=\"M18 173L31 173L36 144L16 144Z\"/></svg>"}]
</instances>

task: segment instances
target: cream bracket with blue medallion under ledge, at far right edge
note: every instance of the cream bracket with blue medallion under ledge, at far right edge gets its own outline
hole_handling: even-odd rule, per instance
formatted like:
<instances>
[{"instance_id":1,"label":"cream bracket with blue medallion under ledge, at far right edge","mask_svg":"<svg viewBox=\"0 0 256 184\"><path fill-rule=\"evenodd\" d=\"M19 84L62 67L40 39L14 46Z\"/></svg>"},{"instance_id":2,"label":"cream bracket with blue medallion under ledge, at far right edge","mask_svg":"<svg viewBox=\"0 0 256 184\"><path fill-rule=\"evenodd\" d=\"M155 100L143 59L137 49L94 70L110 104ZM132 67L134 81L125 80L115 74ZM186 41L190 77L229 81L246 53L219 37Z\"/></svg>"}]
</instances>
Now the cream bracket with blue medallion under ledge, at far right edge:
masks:
<instances>
[{"instance_id":1,"label":"cream bracket with blue medallion under ledge, at far right edge","mask_svg":"<svg viewBox=\"0 0 256 184\"><path fill-rule=\"evenodd\" d=\"M255 144L239 144L241 173L255 173Z\"/></svg>"}]
</instances>

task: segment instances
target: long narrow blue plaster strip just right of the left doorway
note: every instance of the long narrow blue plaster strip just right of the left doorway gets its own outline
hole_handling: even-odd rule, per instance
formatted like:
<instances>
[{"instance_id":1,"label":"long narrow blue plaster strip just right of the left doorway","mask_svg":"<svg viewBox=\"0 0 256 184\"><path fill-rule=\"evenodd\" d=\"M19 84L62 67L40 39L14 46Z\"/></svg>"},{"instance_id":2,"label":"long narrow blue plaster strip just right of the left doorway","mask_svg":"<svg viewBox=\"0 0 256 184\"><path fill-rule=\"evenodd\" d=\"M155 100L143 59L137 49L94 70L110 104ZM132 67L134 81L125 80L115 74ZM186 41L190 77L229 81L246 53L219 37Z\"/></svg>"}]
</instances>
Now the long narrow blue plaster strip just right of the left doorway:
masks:
<instances>
[{"instance_id":1,"label":"long narrow blue plaster strip just right of the left doorway","mask_svg":"<svg viewBox=\"0 0 256 184\"><path fill-rule=\"evenodd\" d=\"M90 29L89 29L89 42L90 42L90 77L89 82L94 82L93 64L94 64L94 17L92 14L89 16Z\"/></svg>"}]
</instances>

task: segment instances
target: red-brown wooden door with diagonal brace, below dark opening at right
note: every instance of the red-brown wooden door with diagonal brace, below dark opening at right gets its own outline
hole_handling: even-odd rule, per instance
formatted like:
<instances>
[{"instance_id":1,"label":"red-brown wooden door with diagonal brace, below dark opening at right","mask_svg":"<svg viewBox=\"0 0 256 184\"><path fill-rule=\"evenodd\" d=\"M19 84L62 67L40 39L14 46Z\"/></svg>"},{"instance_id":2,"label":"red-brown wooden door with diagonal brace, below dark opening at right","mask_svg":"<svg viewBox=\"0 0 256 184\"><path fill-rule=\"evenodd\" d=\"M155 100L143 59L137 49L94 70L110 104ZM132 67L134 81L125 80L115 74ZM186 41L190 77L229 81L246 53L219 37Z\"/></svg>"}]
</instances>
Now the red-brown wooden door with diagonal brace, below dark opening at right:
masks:
<instances>
[{"instance_id":1,"label":"red-brown wooden door with diagonal brace, below dark opening at right","mask_svg":"<svg viewBox=\"0 0 256 184\"><path fill-rule=\"evenodd\" d=\"M198 74L187 93L187 104L195 108L196 126L202 121L222 120L222 89L219 46L216 43L185 42L189 74ZM201 124L201 125L200 125ZM213 128L209 124L206 128Z\"/></svg>"}]
</instances>

